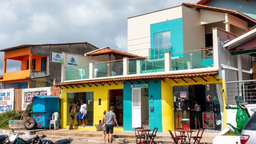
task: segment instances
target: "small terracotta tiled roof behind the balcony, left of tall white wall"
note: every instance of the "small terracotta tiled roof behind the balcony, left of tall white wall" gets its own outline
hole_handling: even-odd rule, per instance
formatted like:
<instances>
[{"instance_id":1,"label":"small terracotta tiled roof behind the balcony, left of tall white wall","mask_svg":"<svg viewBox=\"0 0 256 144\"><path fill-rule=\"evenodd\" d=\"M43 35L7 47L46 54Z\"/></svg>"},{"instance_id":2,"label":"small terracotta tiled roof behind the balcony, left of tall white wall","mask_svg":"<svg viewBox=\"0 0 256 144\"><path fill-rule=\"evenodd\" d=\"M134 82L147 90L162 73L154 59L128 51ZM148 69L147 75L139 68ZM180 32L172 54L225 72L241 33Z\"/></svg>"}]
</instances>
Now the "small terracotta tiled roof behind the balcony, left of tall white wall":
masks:
<instances>
[{"instance_id":1,"label":"small terracotta tiled roof behind the balcony, left of tall white wall","mask_svg":"<svg viewBox=\"0 0 256 144\"><path fill-rule=\"evenodd\" d=\"M99 49L99 50L95 50L95 51L93 51L93 52L89 52L89 53L87 53L86 55L87 55L87 56L97 56L97 55L109 54L109 53L112 53L112 54L119 54L119 55L125 55L125 56L128 56L128 57L142 57L142 56L138 56L138 55L136 55L136 54L127 53L127 52L123 52L123 51L116 50L116 49L111 49L111 48L109 48L109 47L103 48L103 49Z\"/></svg>"}]
</instances>

